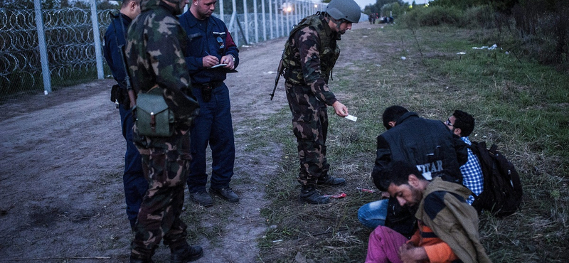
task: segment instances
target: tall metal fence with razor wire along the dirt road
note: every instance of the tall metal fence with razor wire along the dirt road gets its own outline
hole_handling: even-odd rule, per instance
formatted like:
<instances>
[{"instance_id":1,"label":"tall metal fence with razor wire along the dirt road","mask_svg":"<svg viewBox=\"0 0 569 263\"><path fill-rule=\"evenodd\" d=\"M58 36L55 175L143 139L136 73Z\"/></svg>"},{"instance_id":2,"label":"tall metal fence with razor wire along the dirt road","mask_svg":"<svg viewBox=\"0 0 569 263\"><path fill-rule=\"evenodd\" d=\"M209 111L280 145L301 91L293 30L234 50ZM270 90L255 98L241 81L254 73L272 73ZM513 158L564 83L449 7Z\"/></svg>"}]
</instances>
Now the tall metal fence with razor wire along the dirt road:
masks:
<instances>
[{"instance_id":1,"label":"tall metal fence with razor wire along the dirt road","mask_svg":"<svg viewBox=\"0 0 569 263\"><path fill-rule=\"evenodd\" d=\"M218 1L224 8L214 16L228 25L239 46L287 36L304 16L325 9L307 0L225 1ZM111 77L102 58L102 36L115 9L97 10L95 0L89 0L90 8L60 9L42 9L40 0L34 2L33 10L0 7L0 97L48 94Z\"/></svg>"}]
</instances>

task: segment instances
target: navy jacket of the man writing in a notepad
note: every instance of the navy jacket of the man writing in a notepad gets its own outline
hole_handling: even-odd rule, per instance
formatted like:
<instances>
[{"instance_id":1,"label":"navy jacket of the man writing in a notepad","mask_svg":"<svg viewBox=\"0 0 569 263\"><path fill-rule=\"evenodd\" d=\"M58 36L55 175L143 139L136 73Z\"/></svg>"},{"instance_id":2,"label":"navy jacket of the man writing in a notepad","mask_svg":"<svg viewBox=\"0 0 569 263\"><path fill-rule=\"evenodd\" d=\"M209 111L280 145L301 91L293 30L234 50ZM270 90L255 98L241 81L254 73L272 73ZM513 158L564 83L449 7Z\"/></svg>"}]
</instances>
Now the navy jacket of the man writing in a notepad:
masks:
<instances>
[{"instance_id":1,"label":"navy jacket of the man writing in a notepad","mask_svg":"<svg viewBox=\"0 0 569 263\"><path fill-rule=\"evenodd\" d=\"M202 58L207 55L214 55L220 60L224 55L233 55L235 68L239 65L239 50L225 23L214 16L206 18L206 21L207 29L204 31L198 26L203 21L198 21L189 10L180 16L180 24L188 36L184 55L193 85L222 82L227 77L226 68L203 68Z\"/></svg>"}]
</instances>

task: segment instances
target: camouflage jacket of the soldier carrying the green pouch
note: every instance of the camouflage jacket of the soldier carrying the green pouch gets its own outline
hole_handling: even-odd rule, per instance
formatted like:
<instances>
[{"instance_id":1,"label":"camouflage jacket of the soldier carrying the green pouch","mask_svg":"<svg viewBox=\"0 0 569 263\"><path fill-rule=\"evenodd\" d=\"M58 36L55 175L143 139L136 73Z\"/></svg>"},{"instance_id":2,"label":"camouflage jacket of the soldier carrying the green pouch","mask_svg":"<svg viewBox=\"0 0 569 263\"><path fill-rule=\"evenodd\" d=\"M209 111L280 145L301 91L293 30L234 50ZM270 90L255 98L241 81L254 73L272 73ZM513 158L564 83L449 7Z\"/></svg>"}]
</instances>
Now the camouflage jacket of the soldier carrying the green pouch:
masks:
<instances>
[{"instance_id":1,"label":"camouflage jacket of the soldier carrying the green pouch","mask_svg":"<svg viewBox=\"0 0 569 263\"><path fill-rule=\"evenodd\" d=\"M184 50L186 33L174 9L161 0L143 0L142 13L132 21L127 35L127 64L136 92L154 86L164 89L180 129L189 129L199 104L191 94Z\"/></svg>"}]
</instances>

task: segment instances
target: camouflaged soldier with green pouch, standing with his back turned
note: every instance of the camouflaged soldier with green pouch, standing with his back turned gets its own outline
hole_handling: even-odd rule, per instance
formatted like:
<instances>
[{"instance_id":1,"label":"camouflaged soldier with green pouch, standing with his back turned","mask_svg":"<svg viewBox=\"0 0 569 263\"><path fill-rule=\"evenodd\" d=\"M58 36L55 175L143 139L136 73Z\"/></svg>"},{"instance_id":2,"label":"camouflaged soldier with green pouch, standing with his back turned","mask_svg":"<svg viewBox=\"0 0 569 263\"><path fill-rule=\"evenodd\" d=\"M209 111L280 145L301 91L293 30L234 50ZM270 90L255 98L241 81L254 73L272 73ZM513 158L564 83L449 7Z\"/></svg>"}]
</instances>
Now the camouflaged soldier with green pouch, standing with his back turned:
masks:
<instances>
[{"instance_id":1,"label":"camouflaged soldier with green pouch, standing with his back turned","mask_svg":"<svg viewBox=\"0 0 569 263\"><path fill-rule=\"evenodd\" d=\"M186 242L187 226L180 220L191 161L189 129L199 112L182 51L186 33L176 18L186 4L188 0L142 0L142 13L128 31L127 64L134 90L161 87L175 116L170 137L142 136L134 126L134 144L142 155L149 189L138 214L131 263L152 262L162 239L170 247L171 262L189 262L203 255L201 247Z\"/></svg>"}]
</instances>

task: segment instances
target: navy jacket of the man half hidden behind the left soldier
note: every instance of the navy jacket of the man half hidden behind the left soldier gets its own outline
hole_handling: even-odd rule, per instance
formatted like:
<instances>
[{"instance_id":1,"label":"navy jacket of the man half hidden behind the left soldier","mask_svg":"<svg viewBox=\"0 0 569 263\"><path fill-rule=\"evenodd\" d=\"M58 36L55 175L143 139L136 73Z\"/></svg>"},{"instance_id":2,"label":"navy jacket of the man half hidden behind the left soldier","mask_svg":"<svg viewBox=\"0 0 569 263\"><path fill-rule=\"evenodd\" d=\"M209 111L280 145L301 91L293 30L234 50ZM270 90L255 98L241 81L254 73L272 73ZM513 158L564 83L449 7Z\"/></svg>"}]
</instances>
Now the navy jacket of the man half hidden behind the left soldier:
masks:
<instances>
[{"instance_id":1,"label":"navy jacket of the man half hidden behind the left soldier","mask_svg":"<svg viewBox=\"0 0 569 263\"><path fill-rule=\"evenodd\" d=\"M126 32L124 31L129 28L130 22L132 19L124 14L113 18L107 31L105 31L105 45L103 47L103 55L105 55L112 77L115 77L119 85L124 88L127 87L127 83L124 82L127 73L124 72L122 52L119 50L119 46L127 43Z\"/></svg>"}]
</instances>

